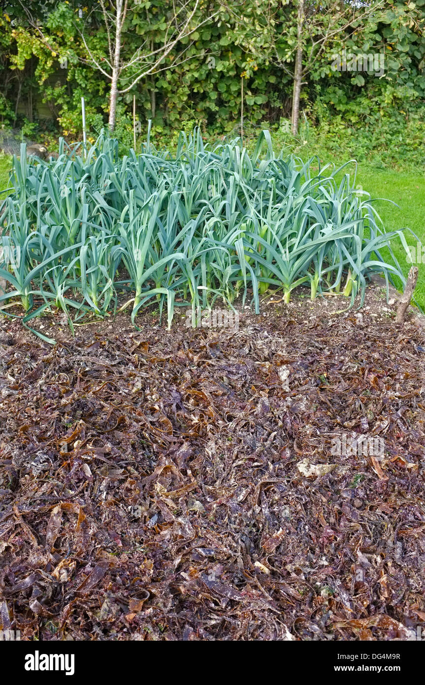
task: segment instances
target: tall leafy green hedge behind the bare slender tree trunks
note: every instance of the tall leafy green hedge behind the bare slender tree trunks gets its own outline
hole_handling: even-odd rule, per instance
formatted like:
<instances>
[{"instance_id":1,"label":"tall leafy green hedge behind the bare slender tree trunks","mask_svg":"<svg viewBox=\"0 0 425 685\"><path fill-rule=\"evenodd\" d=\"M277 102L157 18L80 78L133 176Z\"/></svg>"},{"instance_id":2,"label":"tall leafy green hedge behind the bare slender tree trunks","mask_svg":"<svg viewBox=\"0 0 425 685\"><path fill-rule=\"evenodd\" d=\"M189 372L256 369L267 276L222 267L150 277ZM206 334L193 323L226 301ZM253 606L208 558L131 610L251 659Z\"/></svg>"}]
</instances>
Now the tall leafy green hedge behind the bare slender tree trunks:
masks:
<instances>
[{"instance_id":1,"label":"tall leafy green hedge behind the bare slender tree trunks","mask_svg":"<svg viewBox=\"0 0 425 685\"><path fill-rule=\"evenodd\" d=\"M372 20L363 23L361 8L357 8L359 21L348 29L343 28L342 15L335 15L335 8L334 13L326 13L326 6L326 2L308 3L311 25L302 34L305 87L301 104L309 119L329 129L334 122L336 131L343 126L363 130L365 153L383 140L383 130L388 141L396 136L402 146L401 155L420 147L425 96L425 39L421 28L425 0L383 3ZM99 133L107 116L109 82L90 65L81 32L99 64L107 60L107 33L96 1L83 7L82 17L79 9L81 3L74 0L31 3L37 28L12 3L10 12L17 16L7 14L6 9L0 18L0 77L6 84L0 97L0 119L5 125L14 121L16 84L19 79L24 84L29 82L26 70L31 64L31 70L35 67L31 88L38 89L45 102L54 103L62 133L73 139L81 136L81 95L86 98L88 128ZM125 145L131 140L133 94L138 121L153 119L155 131L164 138L193 123L217 134L231 132L240 119L242 78L247 123L267 121L274 125L281 116L288 116L296 3L248 1L242 13L237 3L224 8L215 0L203 0L194 22L214 10L218 16L176 45L157 73L120 97L118 137ZM138 49L147 54L164 44L171 11L172 3L164 0L131 3L123 60ZM339 25L341 30L335 32ZM333 29L331 38L319 53L314 40L326 34L329 27ZM179 58L183 48L183 58ZM376 77L364 71L333 71L333 56L342 49L348 53L383 53L385 73ZM60 64L66 64L66 69L60 69ZM129 69L129 82L136 73ZM409 130L400 140L403 117Z\"/></svg>"}]
</instances>

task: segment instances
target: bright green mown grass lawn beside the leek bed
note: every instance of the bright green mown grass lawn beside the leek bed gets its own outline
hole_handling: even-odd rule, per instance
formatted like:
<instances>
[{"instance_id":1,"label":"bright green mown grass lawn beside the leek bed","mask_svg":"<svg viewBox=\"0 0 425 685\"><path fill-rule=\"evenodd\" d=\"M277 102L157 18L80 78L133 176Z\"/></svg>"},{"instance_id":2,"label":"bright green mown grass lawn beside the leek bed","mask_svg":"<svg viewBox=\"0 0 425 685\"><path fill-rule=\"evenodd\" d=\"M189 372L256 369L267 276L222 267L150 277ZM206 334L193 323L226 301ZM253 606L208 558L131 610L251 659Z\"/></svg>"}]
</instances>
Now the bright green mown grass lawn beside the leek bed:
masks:
<instances>
[{"instance_id":1,"label":"bright green mown grass lawn beside the leek bed","mask_svg":"<svg viewBox=\"0 0 425 685\"><path fill-rule=\"evenodd\" d=\"M11 158L0 155L0 190L8 185ZM368 190L374 198L391 199L398 207L389 202L377 202L376 210L383 219L385 228L393 231L400 228L410 228L425 244L425 175L410 171L392 171L391 169L376 169L373 166L359 166L357 184ZM0 195L3 199L4 194ZM413 236L406 234L409 245L416 245ZM395 243L394 253L407 274L410 264L405 258L404 249ZM417 264L419 278L415 297L417 303L425 310L425 265Z\"/></svg>"}]
</instances>

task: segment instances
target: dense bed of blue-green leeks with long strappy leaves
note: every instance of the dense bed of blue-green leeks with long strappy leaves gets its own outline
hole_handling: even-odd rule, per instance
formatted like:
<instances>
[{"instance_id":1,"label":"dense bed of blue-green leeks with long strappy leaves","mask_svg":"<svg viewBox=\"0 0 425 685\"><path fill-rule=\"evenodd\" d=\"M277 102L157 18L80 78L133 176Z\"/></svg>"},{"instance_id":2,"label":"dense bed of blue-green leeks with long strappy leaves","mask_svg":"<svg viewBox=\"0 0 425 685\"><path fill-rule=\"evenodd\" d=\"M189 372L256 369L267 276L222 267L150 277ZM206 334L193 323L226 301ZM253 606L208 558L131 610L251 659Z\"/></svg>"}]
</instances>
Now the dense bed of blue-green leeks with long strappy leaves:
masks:
<instances>
[{"instance_id":1,"label":"dense bed of blue-green leeks with long strappy leaves","mask_svg":"<svg viewBox=\"0 0 425 685\"><path fill-rule=\"evenodd\" d=\"M409 254L404 234L385 232L368 193L355 189L355 162L349 173L350 163L276 155L268 131L252 154L239 139L210 149L199 129L180 135L172 157L155 151L149 132L140 154L123 157L107 132L86 158L64 140L49 162L27 160L21 146L0 206L3 246L20 254L12 263L0 253L6 314L20 305L26 323L58 308L72 327L112 314L125 290L120 309L132 305L133 323L155 302L160 314L166 304L170 327L176 307L195 318L217 299L233 307L251 298L258 313L269 288L285 302L298 286L311 299L342 292L352 306L374 273L404 283L391 251L398 239Z\"/></svg>"}]
</instances>

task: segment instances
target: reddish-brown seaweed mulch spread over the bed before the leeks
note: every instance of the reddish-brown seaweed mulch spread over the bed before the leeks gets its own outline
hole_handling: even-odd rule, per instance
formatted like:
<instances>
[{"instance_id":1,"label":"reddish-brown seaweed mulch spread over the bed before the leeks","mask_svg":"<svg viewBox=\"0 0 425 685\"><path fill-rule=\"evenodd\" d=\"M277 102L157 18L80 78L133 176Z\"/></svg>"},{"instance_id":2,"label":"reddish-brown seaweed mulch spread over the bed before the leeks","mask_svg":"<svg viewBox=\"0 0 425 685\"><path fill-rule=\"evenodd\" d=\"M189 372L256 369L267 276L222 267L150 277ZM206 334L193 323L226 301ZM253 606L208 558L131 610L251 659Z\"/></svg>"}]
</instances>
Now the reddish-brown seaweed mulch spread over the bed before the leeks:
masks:
<instances>
[{"instance_id":1,"label":"reddish-brown seaweed mulch spread over the bed before the leeks","mask_svg":"<svg viewBox=\"0 0 425 685\"><path fill-rule=\"evenodd\" d=\"M332 306L269 304L237 331L120 319L55 347L3 319L0 627L413 639L424 332ZM385 449L339 456L335 436Z\"/></svg>"}]
</instances>

